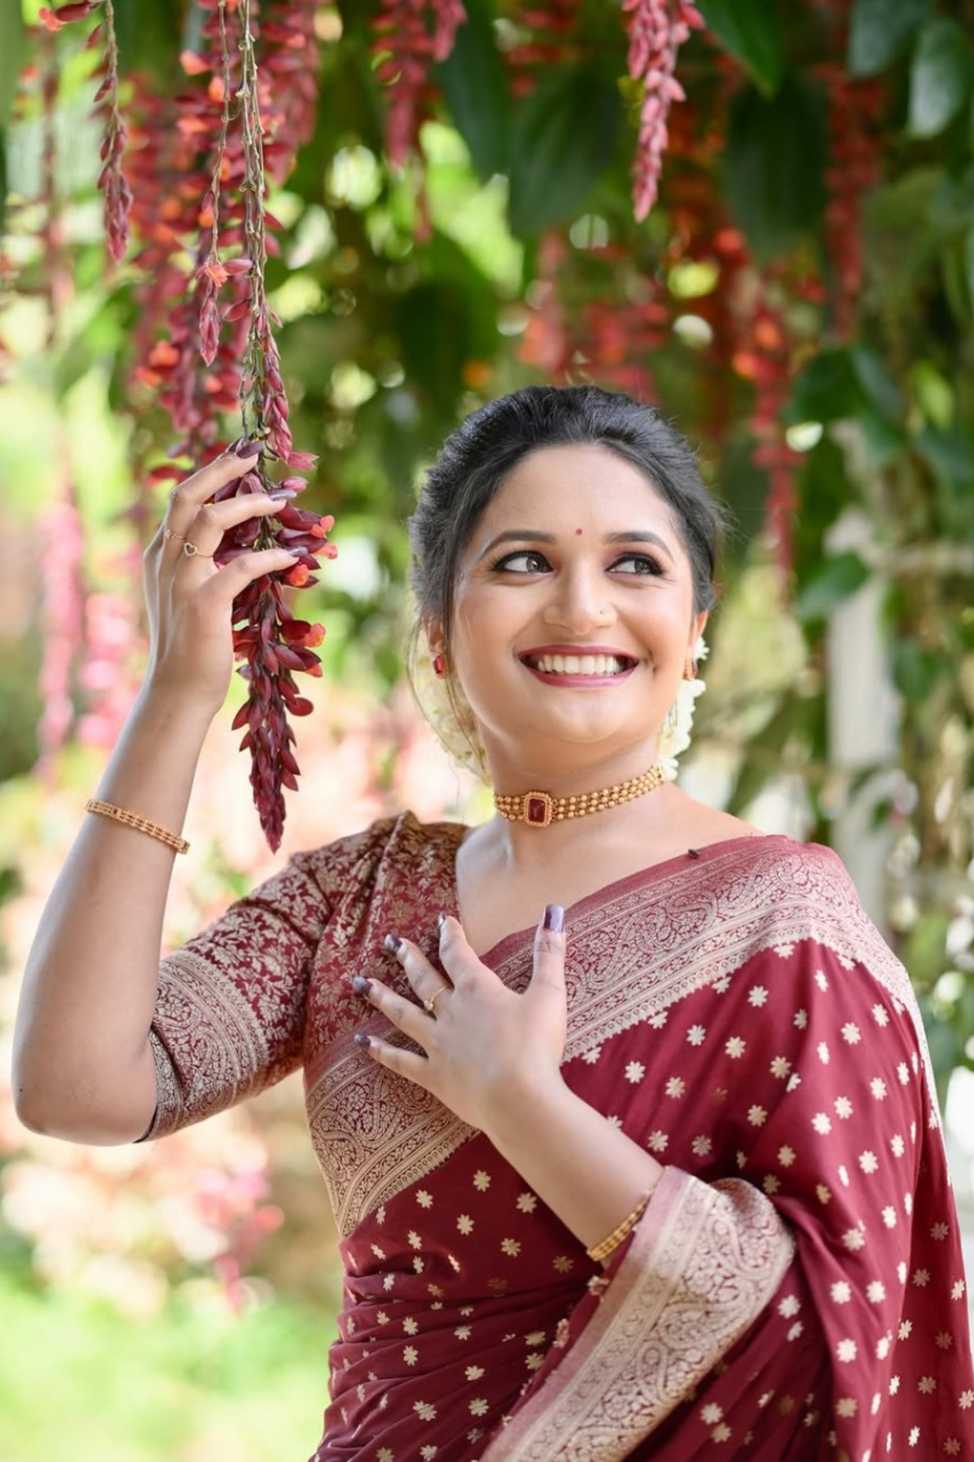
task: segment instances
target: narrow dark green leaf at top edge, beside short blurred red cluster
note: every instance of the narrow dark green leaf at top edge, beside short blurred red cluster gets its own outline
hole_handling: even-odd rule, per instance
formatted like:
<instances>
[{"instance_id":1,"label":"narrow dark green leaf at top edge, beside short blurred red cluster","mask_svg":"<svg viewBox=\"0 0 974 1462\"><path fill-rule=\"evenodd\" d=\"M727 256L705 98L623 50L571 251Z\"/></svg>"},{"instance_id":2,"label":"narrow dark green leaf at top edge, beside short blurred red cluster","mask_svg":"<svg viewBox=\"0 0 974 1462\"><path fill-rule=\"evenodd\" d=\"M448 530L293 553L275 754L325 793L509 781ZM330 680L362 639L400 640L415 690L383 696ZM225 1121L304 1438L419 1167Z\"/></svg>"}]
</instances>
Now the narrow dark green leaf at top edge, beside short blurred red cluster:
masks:
<instances>
[{"instance_id":1,"label":"narrow dark green leaf at top edge, beside short blurred red cluster","mask_svg":"<svg viewBox=\"0 0 974 1462\"><path fill-rule=\"evenodd\" d=\"M510 96L486 4L466 0L464 9L467 19L459 26L453 51L437 75L476 174L488 183L495 173L507 171Z\"/></svg>"}]
</instances>

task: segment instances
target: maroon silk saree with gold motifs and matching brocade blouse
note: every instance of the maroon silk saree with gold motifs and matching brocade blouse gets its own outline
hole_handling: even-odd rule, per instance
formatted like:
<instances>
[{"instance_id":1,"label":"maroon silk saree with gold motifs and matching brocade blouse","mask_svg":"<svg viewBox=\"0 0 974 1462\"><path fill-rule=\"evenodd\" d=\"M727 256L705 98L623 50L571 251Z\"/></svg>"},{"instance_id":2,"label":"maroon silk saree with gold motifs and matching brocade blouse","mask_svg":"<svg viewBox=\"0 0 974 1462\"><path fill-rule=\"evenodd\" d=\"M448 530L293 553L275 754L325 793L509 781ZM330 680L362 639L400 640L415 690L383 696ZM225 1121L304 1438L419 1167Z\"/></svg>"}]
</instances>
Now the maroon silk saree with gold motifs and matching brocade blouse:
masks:
<instances>
[{"instance_id":1,"label":"maroon silk saree with gold motifs and matching brocade blouse","mask_svg":"<svg viewBox=\"0 0 974 1462\"><path fill-rule=\"evenodd\" d=\"M568 909L564 1076L666 1165L603 1270L352 1042L435 958L463 827L301 854L162 963L159 1137L304 1066L345 1303L315 1462L974 1459L956 1213L908 978L835 855L688 849ZM514 990L533 930L485 962ZM402 1037L396 1037L402 1039Z\"/></svg>"}]
</instances>

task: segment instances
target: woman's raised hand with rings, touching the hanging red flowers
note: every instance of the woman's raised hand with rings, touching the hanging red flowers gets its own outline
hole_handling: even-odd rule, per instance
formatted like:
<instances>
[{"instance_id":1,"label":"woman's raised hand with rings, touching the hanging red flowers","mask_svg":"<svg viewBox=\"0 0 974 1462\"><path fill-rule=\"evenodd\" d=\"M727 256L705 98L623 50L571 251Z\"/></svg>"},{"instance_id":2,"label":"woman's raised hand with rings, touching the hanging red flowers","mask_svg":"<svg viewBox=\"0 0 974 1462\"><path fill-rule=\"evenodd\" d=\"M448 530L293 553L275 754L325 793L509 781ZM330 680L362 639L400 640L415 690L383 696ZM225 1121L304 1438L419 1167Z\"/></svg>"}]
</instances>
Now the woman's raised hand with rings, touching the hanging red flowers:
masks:
<instances>
[{"instance_id":1,"label":"woman's raised hand with rings, touching the hanging red flowers","mask_svg":"<svg viewBox=\"0 0 974 1462\"><path fill-rule=\"evenodd\" d=\"M247 452L245 456L239 452ZM216 712L234 670L231 607L260 575L294 564L286 548L244 553L223 567L213 554L228 528L248 518L270 518L291 494L207 499L250 472L258 444L242 443L194 472L169 494L168 512L145 553L145 585L152 633L147 684L193 696Z\"/></svg>"}]
</instances>

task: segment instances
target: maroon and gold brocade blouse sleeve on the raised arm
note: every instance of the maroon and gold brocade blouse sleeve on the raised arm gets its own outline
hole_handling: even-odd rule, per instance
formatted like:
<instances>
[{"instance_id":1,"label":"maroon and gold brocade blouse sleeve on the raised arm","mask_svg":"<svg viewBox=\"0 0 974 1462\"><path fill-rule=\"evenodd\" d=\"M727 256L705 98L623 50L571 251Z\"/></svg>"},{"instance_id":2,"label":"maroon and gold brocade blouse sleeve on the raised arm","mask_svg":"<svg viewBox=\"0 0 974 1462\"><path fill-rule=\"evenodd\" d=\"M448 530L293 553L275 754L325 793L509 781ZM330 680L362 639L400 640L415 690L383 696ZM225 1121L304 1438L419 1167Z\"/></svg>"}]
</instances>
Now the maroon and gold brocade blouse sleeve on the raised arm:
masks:
<instances>
[{"instance_id":1,"label":"maroon and gold brocade blouse sleeve on the raised arm","mask_svg":"<svg viewBox=\"0 0 974 1462\"><path fill-rule=\"evenodd\" d=\"M140 1140L253 1096L301 1064L311 962L331 914L298 854L159 968L149 1032L158 1104Z\"/></svg>"}]
</instances>

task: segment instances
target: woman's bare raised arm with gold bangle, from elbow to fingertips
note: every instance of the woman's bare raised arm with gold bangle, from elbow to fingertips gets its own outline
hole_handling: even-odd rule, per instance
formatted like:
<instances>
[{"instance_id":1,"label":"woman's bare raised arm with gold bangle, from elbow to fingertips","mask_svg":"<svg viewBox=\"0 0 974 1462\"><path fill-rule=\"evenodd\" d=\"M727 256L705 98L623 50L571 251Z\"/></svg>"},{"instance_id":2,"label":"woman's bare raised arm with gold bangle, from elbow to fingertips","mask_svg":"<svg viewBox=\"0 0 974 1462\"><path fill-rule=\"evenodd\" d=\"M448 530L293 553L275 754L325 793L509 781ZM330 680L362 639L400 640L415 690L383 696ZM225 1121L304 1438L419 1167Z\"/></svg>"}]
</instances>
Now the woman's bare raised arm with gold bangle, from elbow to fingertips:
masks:
<instances>
[{"instance_id":1,"label":"woman's bare raised arm with gold bangle, from elbow to fingertips","mask_svg":"<svg viewBox=\"0 0 974 1462\"><path fill-rule=\"evenodd\" d=\"M228 528L280 507L264 496L207 501L253 466L256 452L228 450L177 487L145 554L149 670L96 797L172 833L229 686L232 601L292 561L286 550L267 548L213 564ZM112 817L85 820L23 978L13 1095L25 1126L91 1143L130 1142L149 1127L149 1026L174 857L159 838Z\"/></svg>"}]
</instances>

